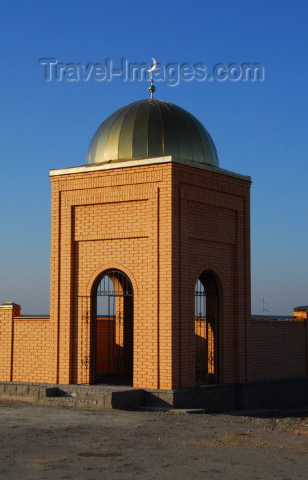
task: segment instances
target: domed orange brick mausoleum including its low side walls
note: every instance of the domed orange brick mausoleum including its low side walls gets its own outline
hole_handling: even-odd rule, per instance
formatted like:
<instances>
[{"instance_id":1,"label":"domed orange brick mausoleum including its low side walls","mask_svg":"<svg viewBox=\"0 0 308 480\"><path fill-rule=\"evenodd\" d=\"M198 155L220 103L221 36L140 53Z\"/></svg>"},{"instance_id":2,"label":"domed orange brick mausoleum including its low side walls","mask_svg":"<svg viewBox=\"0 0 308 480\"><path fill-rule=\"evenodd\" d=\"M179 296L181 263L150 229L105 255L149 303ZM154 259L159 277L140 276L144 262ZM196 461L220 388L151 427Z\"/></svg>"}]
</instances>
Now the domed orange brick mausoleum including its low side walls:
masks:
<instances>
[{"instance_id":1,"label":"domed orange brick mausoleum including its low side walls","mask_svg":"<svg viewBox=\"0 0 308 480\"><path fill-rule=\"evenodd\" d=\"M135 101L99 126L85 165L50 178L50 317L0 306L1 381L195 392L307 378L307 315L251 319L250 177L220 167L191 113Z\"/></svg>"}]
</instances>

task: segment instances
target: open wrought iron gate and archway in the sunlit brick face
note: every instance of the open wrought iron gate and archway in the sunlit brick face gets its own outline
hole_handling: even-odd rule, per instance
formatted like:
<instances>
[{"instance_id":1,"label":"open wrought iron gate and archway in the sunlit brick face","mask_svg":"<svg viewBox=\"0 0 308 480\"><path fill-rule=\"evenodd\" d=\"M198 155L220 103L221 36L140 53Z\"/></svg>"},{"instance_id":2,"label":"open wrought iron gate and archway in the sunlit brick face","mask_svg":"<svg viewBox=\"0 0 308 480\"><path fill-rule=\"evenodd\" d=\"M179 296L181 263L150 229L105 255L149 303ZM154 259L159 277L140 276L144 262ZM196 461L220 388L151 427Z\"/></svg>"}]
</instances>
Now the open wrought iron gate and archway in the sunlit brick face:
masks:
<instances>
[{"instance_id":1,"label":"open wrought iron gate and archway in the sunlit brick face","mask_svg":"<svg viewBox=\"0 0 308 480\"><path fill-rule=\"evenodd\" d=\"M132 385L133 293L128 276L119 270L104 273L96 295L79 298L79 311L82 383Z\"/></svg>"}]
</instances>

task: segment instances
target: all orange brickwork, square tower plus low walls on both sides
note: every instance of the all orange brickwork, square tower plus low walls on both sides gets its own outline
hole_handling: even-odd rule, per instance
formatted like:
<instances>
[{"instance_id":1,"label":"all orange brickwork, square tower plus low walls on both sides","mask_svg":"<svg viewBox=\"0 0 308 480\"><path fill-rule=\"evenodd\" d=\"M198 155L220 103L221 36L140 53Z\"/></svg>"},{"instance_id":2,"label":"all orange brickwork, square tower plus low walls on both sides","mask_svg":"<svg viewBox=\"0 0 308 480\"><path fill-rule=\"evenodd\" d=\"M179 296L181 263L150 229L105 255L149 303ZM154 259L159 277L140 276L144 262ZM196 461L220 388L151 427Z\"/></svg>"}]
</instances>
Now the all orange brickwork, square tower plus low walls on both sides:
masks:
<instances>
[{"instance_id":1,"label":"all orange brickwork, square tower plus low walls on both sides","mask_svg":"<svg viewBox=\"0 0 308 480\"><path fill-rule=\"evenodd\" d=\"M250 320L248 178L172 160L54 171L51 189L50 318L0 308L1 381L93 383L89 365L96 355L104 370L113 328L97 321L95 351L93 296L110 269L132 285L134 387L196 385L202 272L218 289L219 383L307 376L307 320Z\"/></svg>"}]
</instances>

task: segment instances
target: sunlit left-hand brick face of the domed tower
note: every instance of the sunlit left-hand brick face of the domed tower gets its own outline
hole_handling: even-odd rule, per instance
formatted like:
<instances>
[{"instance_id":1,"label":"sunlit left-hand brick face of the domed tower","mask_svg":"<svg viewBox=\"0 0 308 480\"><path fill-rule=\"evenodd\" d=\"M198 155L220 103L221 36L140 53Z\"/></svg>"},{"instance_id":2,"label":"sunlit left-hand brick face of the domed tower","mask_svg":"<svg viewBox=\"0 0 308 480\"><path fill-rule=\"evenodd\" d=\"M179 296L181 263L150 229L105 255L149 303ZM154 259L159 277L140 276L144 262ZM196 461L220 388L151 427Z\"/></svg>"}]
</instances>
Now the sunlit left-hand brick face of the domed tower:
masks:
<instances>
[{"instance_id":1,"label":"sunlit left-hand brick face of the domed tower","mask_svg":"<svg viewBox=\"0 0 308 480\"><path fill-rule=\"evenodd\" d=\"M139 386L157 386L157 212L161 191L165 204L170 202L169 175L168 168L158 166L51 178L51 317L60 327L58 381L90 380L78 358L90 351L80 328L74 330L76 322L79 326L82 322L78 318L82 307L76 311L76 298L91 296L97 276L118 268L134 288L134 378ZM171 224L171 208L167 212L161 221ZM171 266L171 241L169 246L164 242L161 255ZM164 288L170 296L171 287ZM75 357L73 350L78 352ZM70 361L67 352L71 352ZM171 369L168 356L169 352L166 370Z\"/></svg>"}]
</instances>

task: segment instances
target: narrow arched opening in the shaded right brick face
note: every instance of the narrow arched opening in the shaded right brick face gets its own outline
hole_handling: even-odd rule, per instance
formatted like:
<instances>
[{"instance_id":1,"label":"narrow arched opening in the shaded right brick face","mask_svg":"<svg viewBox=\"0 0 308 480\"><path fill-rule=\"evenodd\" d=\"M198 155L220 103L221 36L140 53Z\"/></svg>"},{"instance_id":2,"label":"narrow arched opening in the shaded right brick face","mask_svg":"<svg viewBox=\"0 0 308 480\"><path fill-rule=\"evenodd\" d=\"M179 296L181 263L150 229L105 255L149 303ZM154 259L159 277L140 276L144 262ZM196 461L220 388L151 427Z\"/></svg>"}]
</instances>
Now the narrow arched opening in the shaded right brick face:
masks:
<instances>
[{"instance_id":1,"label":"narrow arched opening in the shaded right brick face","mask_svg":"<svg viewBox=\"0 0 308 480\"><path fill-rule=\"evenodd\" d=\"M195 287L196 385L218 382L218 289L210 272Z\"/></svg>"}]
</instances>

